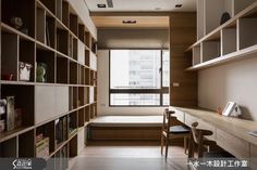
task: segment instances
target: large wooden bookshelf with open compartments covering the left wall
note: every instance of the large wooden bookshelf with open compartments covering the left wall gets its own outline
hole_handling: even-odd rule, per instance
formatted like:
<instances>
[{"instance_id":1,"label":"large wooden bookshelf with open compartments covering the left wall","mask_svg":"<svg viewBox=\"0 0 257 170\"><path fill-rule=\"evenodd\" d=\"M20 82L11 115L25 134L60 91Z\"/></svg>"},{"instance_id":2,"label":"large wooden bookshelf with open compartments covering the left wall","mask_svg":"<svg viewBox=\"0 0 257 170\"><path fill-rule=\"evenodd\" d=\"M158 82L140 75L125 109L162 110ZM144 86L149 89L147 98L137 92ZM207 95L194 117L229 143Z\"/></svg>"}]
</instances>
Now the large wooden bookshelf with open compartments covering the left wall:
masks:
<instances>
[{"instance_id":1,"label":"large wooden bookshelf with open compartments covering the left wall","mask_svg":"<svg viewBox=\"0 0 257 170\"><path fill-rule=\"evenodd\" d=\"M97 116L97 40L65 0L0 8L0 157L42 157L65 169Z\"/></svg>"}]
</instances>

